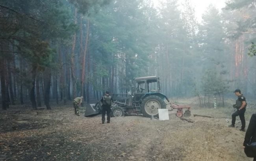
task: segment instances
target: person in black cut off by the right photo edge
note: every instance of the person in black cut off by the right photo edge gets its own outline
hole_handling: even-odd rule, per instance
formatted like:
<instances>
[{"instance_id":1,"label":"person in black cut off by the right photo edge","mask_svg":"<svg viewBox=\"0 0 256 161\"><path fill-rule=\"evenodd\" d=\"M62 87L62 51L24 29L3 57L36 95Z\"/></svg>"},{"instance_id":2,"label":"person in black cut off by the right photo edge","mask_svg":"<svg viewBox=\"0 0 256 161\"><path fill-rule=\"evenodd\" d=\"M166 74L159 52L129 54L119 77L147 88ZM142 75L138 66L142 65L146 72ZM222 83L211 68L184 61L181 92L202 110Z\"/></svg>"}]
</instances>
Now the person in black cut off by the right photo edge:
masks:
<instances>
[{"instance_id":1,"label":"person in black cut off by the right photo edge","mask_svg":"<svg viewBox=\"0 0 256 161\"><path fill-rule=\"evenodd\" d=\"M252 114L252 117L250 118L243 146L248 146L254 142L256 142L256 113ZM256 161L256 157L254 157L253 161Z\"/></svg>"}]
</instances>

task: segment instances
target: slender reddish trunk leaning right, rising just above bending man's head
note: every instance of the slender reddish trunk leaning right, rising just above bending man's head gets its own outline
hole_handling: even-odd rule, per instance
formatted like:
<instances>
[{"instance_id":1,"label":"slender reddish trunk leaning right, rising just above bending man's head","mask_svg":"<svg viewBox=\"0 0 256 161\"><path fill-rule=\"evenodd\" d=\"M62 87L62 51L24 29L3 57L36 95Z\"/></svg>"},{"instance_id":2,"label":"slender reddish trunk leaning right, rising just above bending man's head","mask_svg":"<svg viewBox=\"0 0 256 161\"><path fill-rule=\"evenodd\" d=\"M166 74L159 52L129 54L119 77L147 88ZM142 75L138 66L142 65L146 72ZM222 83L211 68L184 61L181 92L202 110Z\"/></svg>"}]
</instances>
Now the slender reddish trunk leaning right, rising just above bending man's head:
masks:
<instances>
[{"instance_id":1,"label":"slender reddish trunk leaning right, rising just above bending man's head","mask_svg":"<svg viewBox=\"0 0 256 161\"><path fill-rule=\"evenodd\" d=\"M87 48L88 48L89 31L90 31L89 29L90 29L90 20L87 19L87 34L86 34L85 48L83 51L83 59L82 59L81 95L83 95L83 89L84 89L85 57L86 57L86 52L87 52ZM85 95L83 95L83 97L85 98Z\"/></svg>"}]
</instances>

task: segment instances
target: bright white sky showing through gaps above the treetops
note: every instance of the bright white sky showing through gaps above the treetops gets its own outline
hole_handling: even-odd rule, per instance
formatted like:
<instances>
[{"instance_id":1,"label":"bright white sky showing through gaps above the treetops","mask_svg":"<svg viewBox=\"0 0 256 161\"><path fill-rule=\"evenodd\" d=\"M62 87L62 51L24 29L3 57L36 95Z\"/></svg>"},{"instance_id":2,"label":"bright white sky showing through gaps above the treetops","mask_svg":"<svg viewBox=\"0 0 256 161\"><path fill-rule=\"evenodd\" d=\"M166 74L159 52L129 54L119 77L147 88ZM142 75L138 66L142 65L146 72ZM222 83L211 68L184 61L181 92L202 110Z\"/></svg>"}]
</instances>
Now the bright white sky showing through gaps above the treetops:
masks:
<instances>
[{"instance_id":1,"label":"bright white sky showing through gaps above the treetops","mask_svg":"<svg viewBox=\"0 0 256 161\"><path fill-rule=\"evenodd\" d=\"M152 0L155 5L159 4L159 1L162 0ZM182 0L179 0L182 2ZM192 5L195 7L195 16L197 17L198 21L202 20L202 14L206 11L206 8L213 4L215 5L220 11L221 8L225 7L226 0L191 0Z\"/></svg>"}]
</instances>

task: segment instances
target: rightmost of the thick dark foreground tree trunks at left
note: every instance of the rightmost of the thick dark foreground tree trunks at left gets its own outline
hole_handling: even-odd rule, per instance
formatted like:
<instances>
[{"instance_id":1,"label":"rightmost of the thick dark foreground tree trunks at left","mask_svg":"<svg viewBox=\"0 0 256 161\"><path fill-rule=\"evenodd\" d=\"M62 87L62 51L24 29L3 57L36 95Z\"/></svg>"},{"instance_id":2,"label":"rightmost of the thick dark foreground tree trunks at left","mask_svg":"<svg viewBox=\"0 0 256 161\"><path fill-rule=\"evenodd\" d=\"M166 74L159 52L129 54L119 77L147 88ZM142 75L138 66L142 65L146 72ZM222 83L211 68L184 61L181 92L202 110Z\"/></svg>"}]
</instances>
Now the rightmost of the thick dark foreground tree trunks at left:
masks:
<instances>
[{"instance_id":1,"label":"rightmost of the thick dark foreground tree trunks at left","mask_svg":"<svg viewBox=\"0 0 256 161\"><path fill-rule=\"evenodd\" d=\"M51 110L50 107L50 87L51 87L51 71L50 69L45 69L44 71L44 102L47 110Z\"/></svg>"}]
</instances>

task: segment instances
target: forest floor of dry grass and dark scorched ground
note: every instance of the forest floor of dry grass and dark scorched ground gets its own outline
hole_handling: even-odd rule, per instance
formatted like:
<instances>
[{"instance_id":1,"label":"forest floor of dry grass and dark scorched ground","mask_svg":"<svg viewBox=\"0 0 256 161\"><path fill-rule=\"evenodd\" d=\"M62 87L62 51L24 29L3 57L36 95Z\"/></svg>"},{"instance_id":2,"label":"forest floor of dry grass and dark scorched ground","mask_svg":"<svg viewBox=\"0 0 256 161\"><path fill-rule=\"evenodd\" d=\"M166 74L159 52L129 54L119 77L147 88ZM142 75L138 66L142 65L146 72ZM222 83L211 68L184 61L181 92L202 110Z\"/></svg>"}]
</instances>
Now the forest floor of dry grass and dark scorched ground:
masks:
<instances>
[{"instance_id":1,"label":"forest floor of dry grass and dark scorched ground","mask_svg":"<svg viewBox=\"0 0 256 161\"><path fill-rule=\"evenodd\" d=\"M193 123L173 110L165 121L125 116L102 124L100 115L74 115L71 105L52 110L11 106L0 111L0 161L250 161L243 152L239 117L236 128L228 127L232 112L193 106ZM247 125L252 112L247 109Z\"/></svg>"}]
</instances>

